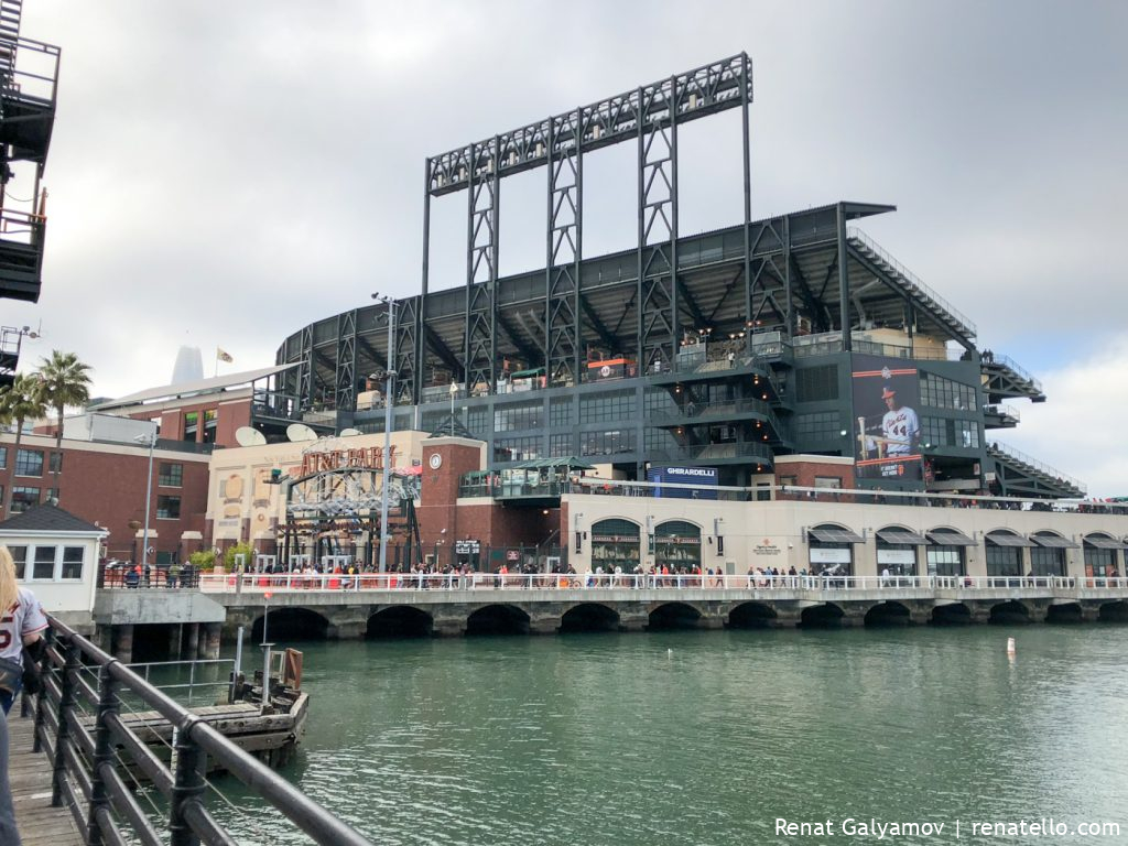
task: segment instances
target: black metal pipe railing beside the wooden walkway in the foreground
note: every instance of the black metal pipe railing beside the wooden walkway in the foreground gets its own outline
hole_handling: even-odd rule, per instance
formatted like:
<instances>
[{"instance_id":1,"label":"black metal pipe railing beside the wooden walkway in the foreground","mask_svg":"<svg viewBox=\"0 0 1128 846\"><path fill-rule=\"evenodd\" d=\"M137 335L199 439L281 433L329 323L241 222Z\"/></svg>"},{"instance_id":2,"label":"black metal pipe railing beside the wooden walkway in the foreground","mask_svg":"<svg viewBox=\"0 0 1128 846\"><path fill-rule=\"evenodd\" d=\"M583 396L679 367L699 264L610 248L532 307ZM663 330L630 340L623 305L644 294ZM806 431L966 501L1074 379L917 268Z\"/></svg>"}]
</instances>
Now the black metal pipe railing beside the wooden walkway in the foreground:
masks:
<instances>
[{"instance_id":1,"label":"black metal pipe railing beside the wooden walkway in the foreground","mask_svg":"<svg viewBox=\"0 0 1128 846\"><path fill-rule=\"evenodd\" d=\"M35 714L35 750L53 761L53 805L65 804L89 846L237 846L204 807L206 756L276 808L317 844L372 846L371 841L301 791L173 702L117 659L55 618L43 658L43 690ZM97 669L97 688L85 675ZM173 726L171 768L123 723L122 691L130 691ZM97 716L83 724L85 700ZM88 721L86 721L88 722ZM115 749L120 747L121 749ZM168 800L167 819L153 819L126 785L126 758Z\"/></svg>"}]
</instances>

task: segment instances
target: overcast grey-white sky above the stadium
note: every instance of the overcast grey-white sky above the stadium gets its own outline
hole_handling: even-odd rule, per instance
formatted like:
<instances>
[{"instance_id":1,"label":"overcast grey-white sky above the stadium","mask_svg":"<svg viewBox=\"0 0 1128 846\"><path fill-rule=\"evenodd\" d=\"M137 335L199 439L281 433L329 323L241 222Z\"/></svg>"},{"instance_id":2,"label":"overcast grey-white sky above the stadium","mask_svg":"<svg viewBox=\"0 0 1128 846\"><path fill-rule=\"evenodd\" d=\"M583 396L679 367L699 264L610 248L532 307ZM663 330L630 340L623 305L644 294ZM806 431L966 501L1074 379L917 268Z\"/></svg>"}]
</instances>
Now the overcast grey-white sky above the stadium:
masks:
<instances>
[{"instance_id":1,"label":"overcast grey-white sky above the stadium","mask_svg":"<svg viewBox=\"0 0 1128 846\"><path fill-rule=\"evenodd\" d=\"M425 156L743 50L754 217L896 204L863 228L1045 382L1001 440L1128 494L1128 3L27 0L23 35L63 51L43 296L0 301L42 323L24 369L72 351L114 396L180 344L271 364L418 292ZM738 223L738 112L679 146L682 233ZM585 159L588 255L634 240L634 155ZM544 264L544 180L502 185L502 273ZM432 206L432 289L465 203Z\"/></svg>"}]
</instances>

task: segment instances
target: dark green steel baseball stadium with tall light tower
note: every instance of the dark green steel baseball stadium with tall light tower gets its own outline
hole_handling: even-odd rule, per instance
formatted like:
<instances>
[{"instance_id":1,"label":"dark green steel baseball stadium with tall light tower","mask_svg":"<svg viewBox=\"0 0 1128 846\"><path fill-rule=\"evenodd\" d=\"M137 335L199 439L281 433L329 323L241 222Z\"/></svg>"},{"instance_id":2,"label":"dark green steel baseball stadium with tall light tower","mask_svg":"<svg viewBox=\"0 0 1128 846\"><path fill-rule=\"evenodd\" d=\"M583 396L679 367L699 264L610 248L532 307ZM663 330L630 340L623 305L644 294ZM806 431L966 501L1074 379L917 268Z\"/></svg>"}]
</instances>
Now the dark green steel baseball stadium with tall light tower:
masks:
<instances>
[{"instance_id":1,"label":"dark green steel baseball stadium with tall light tower","mask_svg":"<svg viewBox=\"0 0 1128 846\"><path fill-rule=\"evenodd\" d=\"M614 479L677 466L756 486L787 481L782 457L820 456L853 459L863 490L1084 495L997 437L1042 387L865 233L896 206L751 219L751 102L740 54L428 158L421 292L285 338L254 425L280 440L294 420L368 433L390 416L485 442L488 472L578 457ZM682 233L679 129L728 109L742 113L743 220ZM637 151L637 237L583 255L584 156L619 143ZM546 266L499 277L502 180L537 168ZM440 288L431 201L457 192L466 277Z\"/></svg>"}]
</instances>

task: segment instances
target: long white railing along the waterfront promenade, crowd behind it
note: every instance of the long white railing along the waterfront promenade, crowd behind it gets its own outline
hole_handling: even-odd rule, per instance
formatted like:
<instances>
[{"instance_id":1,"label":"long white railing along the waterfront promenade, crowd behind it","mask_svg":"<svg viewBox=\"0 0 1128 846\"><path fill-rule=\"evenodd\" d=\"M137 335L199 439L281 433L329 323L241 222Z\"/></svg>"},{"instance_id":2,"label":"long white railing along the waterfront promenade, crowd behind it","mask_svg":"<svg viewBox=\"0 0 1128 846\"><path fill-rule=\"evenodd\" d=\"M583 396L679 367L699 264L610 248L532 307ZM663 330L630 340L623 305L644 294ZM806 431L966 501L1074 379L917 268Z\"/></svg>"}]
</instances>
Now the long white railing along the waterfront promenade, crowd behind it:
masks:
<instances>
[{"instance_id":1,"label":"long white railing along the waterfront promenade, crowd behind it","mask_svg":"<svg viewBox=\"0 0 1128 846\"><path fill-rule=\"evenodd\" d=\"M400 590L540 591L708 590L708 591L936 591L1128 589L1128 579L1059 575L822 575L766 573L248 573L204 574L205 593L373 592Z\"/></svg>"}]
</instances>

